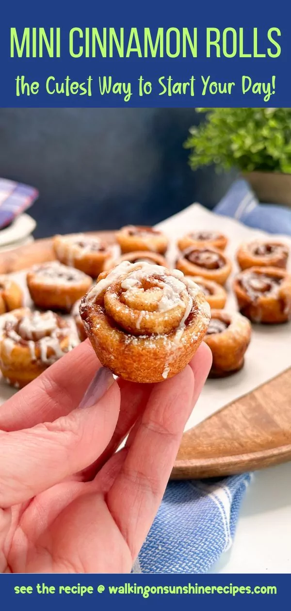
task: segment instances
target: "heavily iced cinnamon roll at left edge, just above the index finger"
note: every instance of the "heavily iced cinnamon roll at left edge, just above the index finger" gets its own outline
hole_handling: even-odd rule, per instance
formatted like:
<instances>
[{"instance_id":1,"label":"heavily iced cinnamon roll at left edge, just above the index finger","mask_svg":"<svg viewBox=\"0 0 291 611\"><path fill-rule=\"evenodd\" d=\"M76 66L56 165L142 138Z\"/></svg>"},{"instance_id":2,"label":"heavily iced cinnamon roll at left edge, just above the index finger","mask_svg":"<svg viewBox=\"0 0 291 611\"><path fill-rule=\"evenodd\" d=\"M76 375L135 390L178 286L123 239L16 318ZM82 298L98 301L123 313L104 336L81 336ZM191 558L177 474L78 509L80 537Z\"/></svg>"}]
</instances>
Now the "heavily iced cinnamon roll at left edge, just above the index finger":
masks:
<instances>
[{"instance_id":1,"label":"heavily iced cinnamon roll at left edge, just above the index finger","mask_svg":"<svg viewBox=\"0 0 291 611\"><path fill-rule=\"evenodd\" d=\"M53 312L31 312L28 308L7 314L1 330L0 368L12 386L22 388L78 340L69 323Z\"/></svg>"}]
</instances>

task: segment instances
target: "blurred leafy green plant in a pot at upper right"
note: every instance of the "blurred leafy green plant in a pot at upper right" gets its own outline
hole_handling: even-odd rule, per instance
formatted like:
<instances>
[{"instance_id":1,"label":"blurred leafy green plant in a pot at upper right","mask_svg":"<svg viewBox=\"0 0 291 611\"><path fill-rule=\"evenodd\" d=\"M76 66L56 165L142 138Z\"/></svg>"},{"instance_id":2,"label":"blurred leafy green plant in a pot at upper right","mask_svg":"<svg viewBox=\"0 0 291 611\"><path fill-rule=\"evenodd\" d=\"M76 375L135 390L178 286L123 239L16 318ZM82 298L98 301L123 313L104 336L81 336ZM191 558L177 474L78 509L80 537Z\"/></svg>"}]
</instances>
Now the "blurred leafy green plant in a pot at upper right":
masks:
<instances>
[{"instance_id":1,"label":"blurred leafy green plant in a pot at upper right","mask_svg":"<svg viewBox=\"0 0 291 611\"><path fill-rule=\"evenodd\" d=\"M291 206L291 108L197 108L190 128L192 169L237 168L259 200Z\"/></svg>"}]
</instances>

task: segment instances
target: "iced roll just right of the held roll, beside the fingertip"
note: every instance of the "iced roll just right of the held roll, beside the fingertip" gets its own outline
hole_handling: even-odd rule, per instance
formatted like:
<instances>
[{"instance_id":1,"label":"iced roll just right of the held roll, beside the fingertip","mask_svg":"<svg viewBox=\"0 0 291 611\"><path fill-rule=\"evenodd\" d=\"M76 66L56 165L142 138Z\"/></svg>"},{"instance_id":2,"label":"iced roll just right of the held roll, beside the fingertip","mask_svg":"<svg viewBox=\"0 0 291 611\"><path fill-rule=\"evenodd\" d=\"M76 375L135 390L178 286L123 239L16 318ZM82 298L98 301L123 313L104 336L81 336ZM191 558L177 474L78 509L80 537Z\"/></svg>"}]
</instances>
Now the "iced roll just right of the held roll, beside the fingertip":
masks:
<instances>
[{"instance_id":1,"label":"iced roll just right of the held roll, beside the fingertip","mask_svg":"<svg viewBox=\"0 0 291 611\"><path fill-rule=\"evenodd\" d=\"M251 324L245 316L238 312L212 310L204 337L213 357L209 377L223 378L240 371L250 341Z\"/></svg>"}]
</instances>

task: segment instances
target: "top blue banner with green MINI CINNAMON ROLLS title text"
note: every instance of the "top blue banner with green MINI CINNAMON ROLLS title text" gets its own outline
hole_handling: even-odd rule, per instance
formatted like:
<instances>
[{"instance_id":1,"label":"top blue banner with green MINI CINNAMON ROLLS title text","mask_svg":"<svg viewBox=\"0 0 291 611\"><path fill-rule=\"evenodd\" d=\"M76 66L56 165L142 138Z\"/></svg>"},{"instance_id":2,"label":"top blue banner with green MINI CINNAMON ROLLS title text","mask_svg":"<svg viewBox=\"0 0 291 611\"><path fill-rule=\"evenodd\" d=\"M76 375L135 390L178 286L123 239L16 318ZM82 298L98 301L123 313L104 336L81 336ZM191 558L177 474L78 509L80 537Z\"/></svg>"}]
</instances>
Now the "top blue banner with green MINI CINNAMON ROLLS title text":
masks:
<instances>
[{"instance_id":1,"label":"top blue banner with green MINI CINNAMON ROLLS title text","mask_svg":"<svg viewBox=\"0 0 291 611\"><path fill-rule=\"evenodd\" d=\"M290 106L286 5L10 2L0 106Z\"/></svg>"}]
</instances>

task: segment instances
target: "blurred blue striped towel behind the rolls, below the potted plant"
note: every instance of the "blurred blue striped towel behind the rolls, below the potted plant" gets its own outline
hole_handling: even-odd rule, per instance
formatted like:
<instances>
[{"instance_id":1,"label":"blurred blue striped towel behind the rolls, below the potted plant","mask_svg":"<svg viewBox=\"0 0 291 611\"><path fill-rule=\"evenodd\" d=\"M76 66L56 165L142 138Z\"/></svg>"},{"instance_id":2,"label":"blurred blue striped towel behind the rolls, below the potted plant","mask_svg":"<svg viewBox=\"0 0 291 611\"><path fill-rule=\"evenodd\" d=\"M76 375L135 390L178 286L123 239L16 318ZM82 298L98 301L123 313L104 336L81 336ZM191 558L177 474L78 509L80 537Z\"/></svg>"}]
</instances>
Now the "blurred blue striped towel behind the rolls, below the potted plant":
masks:
<instances>
[{"instance_id":1,"label":"blurred blue striped towel behind the rolls, below the potted plant","mask_svg":"<svg viewBox=\"0 0 291 611\"><path fill-rule=\"evenodd\" d=\"M291 210L284 206L259 203L246 180L236 180L213 212L237 219L248 227L268 233L291 235Z\"/></svg>"}]
</instances>

